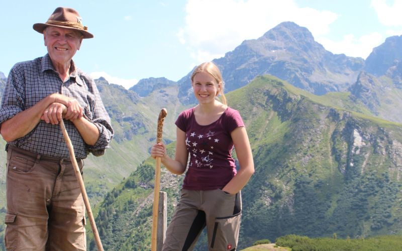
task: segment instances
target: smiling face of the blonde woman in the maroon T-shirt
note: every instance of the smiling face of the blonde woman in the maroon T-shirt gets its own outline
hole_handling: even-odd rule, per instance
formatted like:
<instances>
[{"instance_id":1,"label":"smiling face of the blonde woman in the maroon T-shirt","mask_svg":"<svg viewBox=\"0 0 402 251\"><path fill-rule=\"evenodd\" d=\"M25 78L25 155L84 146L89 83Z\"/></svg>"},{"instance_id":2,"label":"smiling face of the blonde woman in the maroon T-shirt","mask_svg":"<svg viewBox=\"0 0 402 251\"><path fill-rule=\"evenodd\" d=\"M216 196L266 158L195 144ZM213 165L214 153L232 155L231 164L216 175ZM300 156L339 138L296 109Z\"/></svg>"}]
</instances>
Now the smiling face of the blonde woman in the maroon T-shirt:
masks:
<instances>
[{"instance_id":1,"label":"smiling face of the blonde woman in the maroon T-shirt","mask_svg":"<svg viewBox=\"0 0 402 251\"><path fill-rule=\"evenodd\" d=\"M198 72L192 80L192 89L200 104L214 102L219 88L218 82L208 72Z\"/></svg>"}]
</instances>

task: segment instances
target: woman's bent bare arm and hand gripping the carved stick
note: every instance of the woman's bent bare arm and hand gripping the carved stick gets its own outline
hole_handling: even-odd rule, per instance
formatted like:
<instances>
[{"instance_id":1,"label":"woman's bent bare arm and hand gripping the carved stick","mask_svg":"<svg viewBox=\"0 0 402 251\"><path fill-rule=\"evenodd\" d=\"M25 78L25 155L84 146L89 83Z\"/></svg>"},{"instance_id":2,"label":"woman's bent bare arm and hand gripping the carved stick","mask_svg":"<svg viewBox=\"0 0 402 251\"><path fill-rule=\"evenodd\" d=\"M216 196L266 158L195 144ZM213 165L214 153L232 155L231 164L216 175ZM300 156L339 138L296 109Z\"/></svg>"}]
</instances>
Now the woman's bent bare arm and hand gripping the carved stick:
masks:
<instances>
[{"instance_id":1,"label":"woman's bent bare arm and hand gripping the carved stick","mask_svg":"<svg viewBox=\"0 0 402 251\"><path fill-rule=\"evenodd\" d=\"M179 128L176 129L176 153L174 160L166 153L164 144L155 144L151 148L153 158L160 157L162 164L173 174L180 175L184 173L187 167L188 151L185 146L185 132Z\"/></svg>"}]
</instances>

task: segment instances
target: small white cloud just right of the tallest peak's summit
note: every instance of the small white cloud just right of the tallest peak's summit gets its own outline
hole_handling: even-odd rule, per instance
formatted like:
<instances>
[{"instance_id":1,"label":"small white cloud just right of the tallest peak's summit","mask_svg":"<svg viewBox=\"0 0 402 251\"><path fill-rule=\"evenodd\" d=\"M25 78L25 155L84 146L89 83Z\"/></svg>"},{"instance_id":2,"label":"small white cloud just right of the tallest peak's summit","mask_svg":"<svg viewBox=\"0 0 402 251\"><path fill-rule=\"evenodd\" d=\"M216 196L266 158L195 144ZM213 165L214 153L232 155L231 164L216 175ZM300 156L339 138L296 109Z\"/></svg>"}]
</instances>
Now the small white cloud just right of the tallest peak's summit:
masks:
<instances>
[{"instance_id":1,"label":"small white cloud just right of the tallest peak's summit","mask_svg":"<svg viewBox=\"0 0 402 251\"><path fill-rule=\"evenodd\" d=\"M326 50L334 54L345 54L350 57L361 57L366 59L377 47L384 42L383 36L377 32L355 38L353 34L343 36L341 41L332 41L327 38L317 38Z\"/></svg>"}]
</instances>

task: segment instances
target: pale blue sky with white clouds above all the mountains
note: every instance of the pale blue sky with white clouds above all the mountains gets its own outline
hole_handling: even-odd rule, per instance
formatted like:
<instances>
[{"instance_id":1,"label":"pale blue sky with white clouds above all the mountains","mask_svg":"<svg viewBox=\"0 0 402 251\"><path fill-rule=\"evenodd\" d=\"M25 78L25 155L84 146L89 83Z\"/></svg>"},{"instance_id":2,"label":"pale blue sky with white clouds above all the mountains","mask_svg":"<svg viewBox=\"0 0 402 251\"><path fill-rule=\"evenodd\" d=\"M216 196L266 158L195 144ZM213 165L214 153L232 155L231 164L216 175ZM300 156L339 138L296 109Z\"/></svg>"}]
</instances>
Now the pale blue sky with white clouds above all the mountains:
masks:
<instances>
[{"instance_id":1,"label":"pale blue sky with white clouds above all the mountains","mask_svg":"<svg viewBox=\"0 0 402 251\"><path fill-rule=\"evenodd\" d=\"M59 6L76 9L94 35L74 56L78 67L126 88L148 77L177 81L284 21L308 28L332 53L364 59L402 35L402 0L2 0L1 72L46 54L32 25Z\"/></svg>"}]
</instances>

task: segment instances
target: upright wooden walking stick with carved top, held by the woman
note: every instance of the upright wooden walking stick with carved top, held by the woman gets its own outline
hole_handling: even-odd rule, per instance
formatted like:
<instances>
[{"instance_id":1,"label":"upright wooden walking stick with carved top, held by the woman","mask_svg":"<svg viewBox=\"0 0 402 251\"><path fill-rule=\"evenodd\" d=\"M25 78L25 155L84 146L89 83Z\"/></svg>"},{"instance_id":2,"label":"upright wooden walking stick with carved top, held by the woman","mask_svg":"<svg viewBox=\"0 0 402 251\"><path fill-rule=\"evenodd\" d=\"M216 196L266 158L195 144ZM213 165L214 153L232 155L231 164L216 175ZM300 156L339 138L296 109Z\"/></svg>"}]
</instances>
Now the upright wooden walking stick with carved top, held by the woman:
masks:
<instances>
[{"instance_id":1,"label":"upright wooden walking stick with carved top, held by the woman","mask_svg":"<svg viewBox=\"0 0 402 251\"><path fill-rule=\"evenodd\" d=\"M156 132L156 143L162 142L162 128L163 122L167 115L167 111L163 108L159 112L158 117L158 128ZM157 245L157 231L158 231L158 203L159 203L159 185L160 185L160 157L156 157L156 166L155 166L155 186L154 186L154 204L152 210L152 238L151 238L151 250L156 251Z\"/></svg>"}]
</instances>

